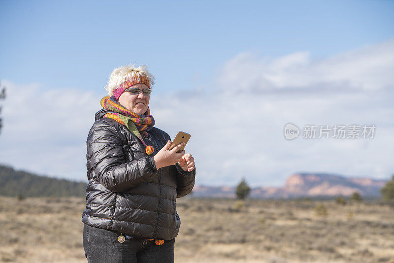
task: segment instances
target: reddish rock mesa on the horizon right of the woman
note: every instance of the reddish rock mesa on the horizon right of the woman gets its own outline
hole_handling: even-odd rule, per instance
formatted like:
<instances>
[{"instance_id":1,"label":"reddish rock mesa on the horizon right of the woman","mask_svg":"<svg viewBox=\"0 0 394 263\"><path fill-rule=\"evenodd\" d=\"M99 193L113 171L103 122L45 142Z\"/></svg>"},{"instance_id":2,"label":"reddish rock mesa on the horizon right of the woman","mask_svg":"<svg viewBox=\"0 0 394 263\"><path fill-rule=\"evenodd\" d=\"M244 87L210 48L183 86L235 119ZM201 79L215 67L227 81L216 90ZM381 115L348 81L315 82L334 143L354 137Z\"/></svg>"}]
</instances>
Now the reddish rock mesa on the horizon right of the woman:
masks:
<instances>
[{"instance_id":1,"label":"reddish rock mesa on the horizon right of the woman","mask_svg":"<svg viewBox=\"0 0 394 263\"><path fill-rule=\"evenodd\" d=\"M252 188L252 198L296 198L350 196L359 192L362 197L380 197L379 190L388 180L348 178L327 173L296 173L288 177L283 187ZM195 186L194 197L235 197L235 187Z\"/></svg>"}]
</instances>

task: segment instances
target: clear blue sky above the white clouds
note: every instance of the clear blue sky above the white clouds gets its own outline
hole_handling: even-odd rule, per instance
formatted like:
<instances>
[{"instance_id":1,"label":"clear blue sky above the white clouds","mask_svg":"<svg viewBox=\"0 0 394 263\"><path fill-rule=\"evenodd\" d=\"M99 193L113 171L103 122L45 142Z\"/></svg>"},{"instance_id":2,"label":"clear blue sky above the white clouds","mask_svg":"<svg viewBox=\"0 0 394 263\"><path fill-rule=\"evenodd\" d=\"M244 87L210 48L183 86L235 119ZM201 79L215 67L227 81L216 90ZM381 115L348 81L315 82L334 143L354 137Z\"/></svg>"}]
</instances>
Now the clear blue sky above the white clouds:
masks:
<instances>
[{"instance_id":1,"label":"clear blue sky above the white clouds","mask_svg":"<svg viewBox=\"0 0 394 263\"><path fill-rule=\"evenodd\" d=\"M158 92L194 88L239 52L319 58L386 40L393 11L393 1L1 1L0 77L94 90L136 62Z\"/></svg>"}]
</instances>

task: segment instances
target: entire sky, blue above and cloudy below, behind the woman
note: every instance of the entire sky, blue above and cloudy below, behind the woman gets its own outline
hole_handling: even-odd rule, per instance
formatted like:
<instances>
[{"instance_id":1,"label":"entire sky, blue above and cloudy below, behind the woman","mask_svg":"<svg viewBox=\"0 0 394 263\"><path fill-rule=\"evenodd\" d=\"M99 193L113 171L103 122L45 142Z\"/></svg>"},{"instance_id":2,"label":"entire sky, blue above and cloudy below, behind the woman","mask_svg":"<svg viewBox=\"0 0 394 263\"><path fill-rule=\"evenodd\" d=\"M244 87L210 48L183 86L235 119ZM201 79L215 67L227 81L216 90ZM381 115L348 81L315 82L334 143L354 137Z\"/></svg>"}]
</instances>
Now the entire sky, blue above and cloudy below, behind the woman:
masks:
<instances>
[{"instance_id":1,"label":"entire sky, blue above and cloudy below, behind the woman","mask_svg":"<svg viewBox=\"0 0 394 263\"><path fill-rule=\"evenodd\" d=\"M0 0L0 163L87 181L110 72L148 65L155 126L192 134L196 184L394 173L394 1ZM287 140L284 127L300 136ZM376 129L303 138L305 126ZM319 134L318 134L319 135Z\"/></svg>"}]
</instances>

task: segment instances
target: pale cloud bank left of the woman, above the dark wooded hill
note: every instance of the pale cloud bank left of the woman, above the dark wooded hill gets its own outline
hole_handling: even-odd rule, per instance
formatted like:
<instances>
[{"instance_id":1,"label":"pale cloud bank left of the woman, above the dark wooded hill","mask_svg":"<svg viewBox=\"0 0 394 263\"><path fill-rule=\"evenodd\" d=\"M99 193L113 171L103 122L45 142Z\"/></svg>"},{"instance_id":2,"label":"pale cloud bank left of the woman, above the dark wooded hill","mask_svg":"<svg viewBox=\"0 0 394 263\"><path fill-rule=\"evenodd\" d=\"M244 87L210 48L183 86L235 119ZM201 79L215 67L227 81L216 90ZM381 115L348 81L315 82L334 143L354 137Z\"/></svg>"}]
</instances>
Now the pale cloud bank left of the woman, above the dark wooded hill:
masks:
<instances>
[{"instance_id":1,"label":"pale cloud bank left of the woman, above the dark wooded hill","mask_svg":"<svg viewBox=\"0 0 394 263\"><path fill-rule=\"evenodd\" d=\"M39 174L82 181L87 133L99 96L76 89L43 90L39 84L3 81L0 162Z\"/></svg>"}]
</instances>

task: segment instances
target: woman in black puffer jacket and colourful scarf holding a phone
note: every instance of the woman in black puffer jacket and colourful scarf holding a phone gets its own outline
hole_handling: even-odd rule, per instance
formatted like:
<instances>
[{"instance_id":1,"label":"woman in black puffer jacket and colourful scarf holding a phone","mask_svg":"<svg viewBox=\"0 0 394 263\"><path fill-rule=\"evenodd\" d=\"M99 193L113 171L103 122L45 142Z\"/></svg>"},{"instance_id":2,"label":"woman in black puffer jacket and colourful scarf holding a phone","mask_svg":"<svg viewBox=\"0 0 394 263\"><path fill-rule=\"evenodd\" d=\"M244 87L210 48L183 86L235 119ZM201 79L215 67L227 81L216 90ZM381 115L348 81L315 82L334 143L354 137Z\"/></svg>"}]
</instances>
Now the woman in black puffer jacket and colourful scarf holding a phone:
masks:
<instances>
[{"instance_id":1,"label":"woman in black puffer jacket and colourful scarf holding a phone","mask_svg":"<svg viewBox=\"0 0 394 263\"><path fill-rule=\"evenodd\" d=\"M174 262L176 198L195 184L194 158L153 127L154 76L145 66L112 71L90 129L83 246L88 262Z\"/></svg>"}]
</instances>

